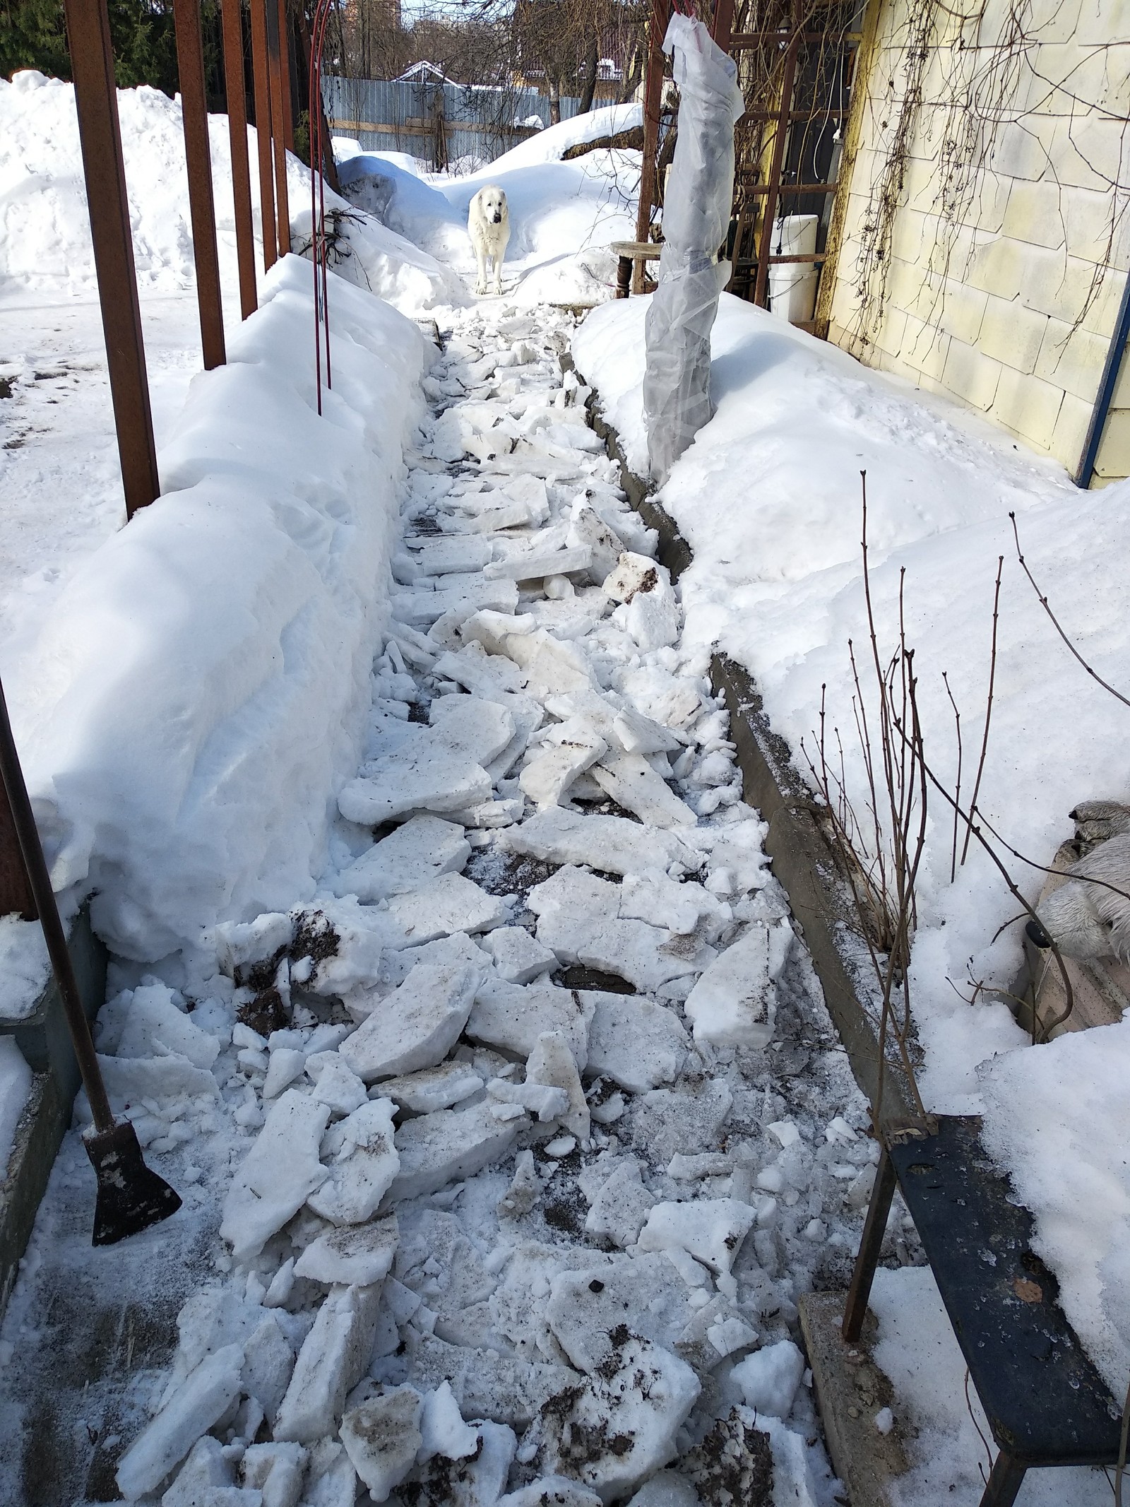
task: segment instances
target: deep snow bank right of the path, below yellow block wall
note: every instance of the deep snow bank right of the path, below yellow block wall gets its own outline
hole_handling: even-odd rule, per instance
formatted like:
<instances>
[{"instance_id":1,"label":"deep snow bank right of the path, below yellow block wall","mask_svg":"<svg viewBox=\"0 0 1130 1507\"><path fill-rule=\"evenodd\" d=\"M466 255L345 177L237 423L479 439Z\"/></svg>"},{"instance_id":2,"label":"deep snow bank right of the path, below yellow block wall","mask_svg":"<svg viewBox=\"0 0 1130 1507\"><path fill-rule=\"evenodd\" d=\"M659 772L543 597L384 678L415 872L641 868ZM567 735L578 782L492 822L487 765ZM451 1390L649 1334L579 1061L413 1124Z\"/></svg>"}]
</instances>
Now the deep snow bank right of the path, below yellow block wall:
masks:
<instances>
[{"instance_id":1,"label":"deep snow bank right of the path, below yellow block wall","mask_svg":"<svg viewBox=\"0 0 1130 1507\"><path fill-rule=\"evenodd\" d=\"M646 298L631 298L598 309L574 341L577 366L598 387L637 472L646 466ZM847 643L866 643L859 549L865 469L880 643L887 654L896 643L906 571L907 639L916 650L927 757L939 779L952 790L957 776L945 671L961 710L967 799L1003 555L978 809L1012 847L1049 864L1071 835L1068 812L1077 802L1127 799L1127 713L1056 637L1015 561L1008 514L1017 514L1028 564L1065 631L1100 675L1124 687L1130 484L1080 493L1058 466L1019 452L988 426L729 297L714 327L713 393L716 416L658 493L695 550L681 577L687 633L753 672L773 726L802 767L800 741L814 749L827 686L829 729L842 732L848 785L863 809ZM1068 1314L1121 1395L1130 1370L1130 1273L1118 1252L1125 1249L1130 1165L1104 1151L1124 1142L1124 1121L1103 1085L1110 1074L1130 1081L1127 1032L1112 1026L1029 1052L1005 1005L967 1002L978 981L1008 989L1015 977L1020 927L1006 922L1019 907L976 844L951 885L951 841L952 817L939 799L919 874L912 960L927 1053L919 1084L945 1112L985 1108L988 1085L994 1145L1038 1218L1041 1252L1059 1276ZM1035 900L1043 873L1009 864ZM996 1053L1005 1056L993 1067Z\"/></svg>"}]
</instances>

